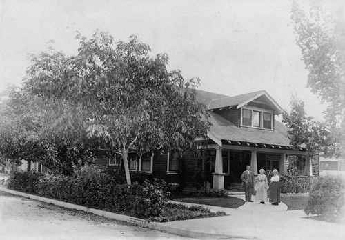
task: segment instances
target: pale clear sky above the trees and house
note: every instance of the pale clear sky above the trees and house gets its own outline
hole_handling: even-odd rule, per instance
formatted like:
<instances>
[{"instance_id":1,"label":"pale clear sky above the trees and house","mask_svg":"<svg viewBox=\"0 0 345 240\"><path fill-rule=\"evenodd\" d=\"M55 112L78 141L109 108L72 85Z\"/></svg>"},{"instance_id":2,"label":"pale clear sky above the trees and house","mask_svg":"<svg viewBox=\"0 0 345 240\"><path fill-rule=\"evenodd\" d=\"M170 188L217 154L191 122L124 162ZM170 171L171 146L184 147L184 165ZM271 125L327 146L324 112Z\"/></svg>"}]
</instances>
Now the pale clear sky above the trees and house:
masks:
<instances>
[{"instance_id":1,"label":"pale clear sky above the trees and house","mask_svg":"<svg viewBox=\"0 0 345 240\"><path fill-rule=\"evenodd\" d=\"M266 90L288 110L297 94L308 115L322 120L322 105L306 88L308 72L290 20L291 0L91 1L0 0L0 92L19 86L28 54L48 41L75 54L77 32L96 29L115 41L136 34L152 54L167 53L169 70L199 77L199 90L233 96ZM299 1L305 8L308 0Z\"/></svg>"}]
</instances>

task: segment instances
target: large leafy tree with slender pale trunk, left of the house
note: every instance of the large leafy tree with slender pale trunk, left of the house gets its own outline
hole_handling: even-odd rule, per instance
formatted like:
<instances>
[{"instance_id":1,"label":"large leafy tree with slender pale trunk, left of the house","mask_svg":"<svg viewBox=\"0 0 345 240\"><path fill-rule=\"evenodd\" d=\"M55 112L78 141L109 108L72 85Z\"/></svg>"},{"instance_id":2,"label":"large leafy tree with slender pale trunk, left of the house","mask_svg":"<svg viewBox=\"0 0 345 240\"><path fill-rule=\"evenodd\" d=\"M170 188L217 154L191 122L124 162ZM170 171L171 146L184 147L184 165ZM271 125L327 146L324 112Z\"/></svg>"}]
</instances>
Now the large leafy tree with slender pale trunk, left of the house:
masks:
<instances>
[{"instance_id":1,"label":"large leafy tree with slender pale trunk, left of the house","mask_svg":"<svg viewBox=\"0 0 345 240\"><path fill-rule=\"evenodd\" d=\"M97 139L121 155L128 184L130 152L182 152L206 135L207 110L195 101L199 79L169 72L166 54L151 57L135 36L115 44L105 32L77 39L74 56L53 49L31 56L23 90L40 99L46 132Z\"/></svg>"}]
</instances>

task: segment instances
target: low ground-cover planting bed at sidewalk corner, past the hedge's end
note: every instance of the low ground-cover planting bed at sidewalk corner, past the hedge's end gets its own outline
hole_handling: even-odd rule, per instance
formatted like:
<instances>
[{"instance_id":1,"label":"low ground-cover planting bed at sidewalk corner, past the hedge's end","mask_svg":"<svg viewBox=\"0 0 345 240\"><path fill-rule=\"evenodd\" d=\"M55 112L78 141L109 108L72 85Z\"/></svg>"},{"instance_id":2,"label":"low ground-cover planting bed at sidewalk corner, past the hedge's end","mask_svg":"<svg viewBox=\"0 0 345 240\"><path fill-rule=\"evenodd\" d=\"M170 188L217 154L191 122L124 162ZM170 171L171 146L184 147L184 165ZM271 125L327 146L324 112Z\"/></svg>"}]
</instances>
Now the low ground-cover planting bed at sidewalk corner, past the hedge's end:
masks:
<instances>
[{"instance_id":1,"label":"low ground-cover planting bed at sidewalk corner, past the hedge's end","mask_svg":"<svg viewBox=\"0 0 345 240\"><path fill-rule=\"evenodd\" d=\"M181 221L204 217L220 217L225 215L225 212L210 212L208 208L201 206L186 207L183 204L168 203L159 217L150 217L148 220L163 223L167 221Z\"/></svg>"}]
</instances>

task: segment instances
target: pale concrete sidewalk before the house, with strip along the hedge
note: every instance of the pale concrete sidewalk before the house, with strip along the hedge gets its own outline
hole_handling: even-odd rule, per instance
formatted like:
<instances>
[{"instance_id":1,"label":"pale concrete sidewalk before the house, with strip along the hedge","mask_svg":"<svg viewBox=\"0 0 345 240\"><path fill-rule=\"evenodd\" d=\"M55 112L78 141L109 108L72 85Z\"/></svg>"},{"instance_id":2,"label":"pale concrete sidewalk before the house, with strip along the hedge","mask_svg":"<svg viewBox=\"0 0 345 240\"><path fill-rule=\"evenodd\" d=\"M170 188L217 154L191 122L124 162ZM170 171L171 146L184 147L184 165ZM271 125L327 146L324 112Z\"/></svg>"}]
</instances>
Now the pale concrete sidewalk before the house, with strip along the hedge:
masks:
<instances>
[{"instance_id":1,"label":"pale concrete sidewalk before the house, with strip along the hedge","mask_svg":"<svg viewBox=\"0 0 345 240\"><path fill-rule=\"evenodd\" d=\"M52 199L47 200L41 197L34 197L30 194L23 194L3 187L0 187L0 190L12 194L19 194L23 197L34 198L39 201L55 201ZM244 195L241 194L232 197L244 199ZM55 204L62 204L62 206L65 207L69 207L68 205L70 204L63 202L58 203L58 201L55 202L57 202ZM196 205L190 203L184 204ZM237 209L203 206L209 208L213 212L224 211L228 216L168 223L147 223L141 219L100 210L90 211L90 209L88 209L86 211L115 219L119 218L118 220L121 221L128 221L140 226L147 226L156 230L163 230L172 234L196 239L345 239L344 225L306 219L306 214L303 210L287 211L287 206L284 203L279 203L279 206L273 206L270 203L259 204L255 202L246 202ZM82 206L77 207L85 208ZM75 208L75 206L71 208ZM133 219L135 221L133 221Z\"/></svg>"}]
</instances>

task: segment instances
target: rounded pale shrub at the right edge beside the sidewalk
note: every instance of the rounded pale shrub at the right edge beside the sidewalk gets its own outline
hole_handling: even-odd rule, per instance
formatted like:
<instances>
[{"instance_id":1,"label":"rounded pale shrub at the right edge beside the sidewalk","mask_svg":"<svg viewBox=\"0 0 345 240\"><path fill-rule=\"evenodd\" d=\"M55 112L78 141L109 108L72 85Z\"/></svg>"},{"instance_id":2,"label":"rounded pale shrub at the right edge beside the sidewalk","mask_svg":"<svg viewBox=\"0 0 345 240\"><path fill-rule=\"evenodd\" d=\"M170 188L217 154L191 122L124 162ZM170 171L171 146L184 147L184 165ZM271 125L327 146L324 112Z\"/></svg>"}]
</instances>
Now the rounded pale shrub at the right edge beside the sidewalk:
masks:
<instances>
[{"instance_id":1,"label":"rounded pale shrub at the right edge beside the sidewalk","mask_svg":"<svg viewBox=\"0 0 345 240\"><path fill-rule=\"evenodd\" d=\"M309 192L306 214L318 214L337 219L344 216L345 180L341 177L319 177Z\"/></svg>"}]
</instances>

